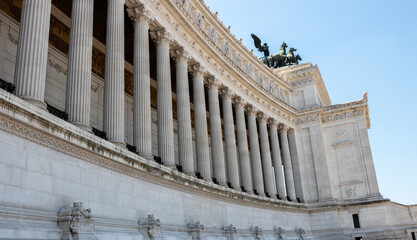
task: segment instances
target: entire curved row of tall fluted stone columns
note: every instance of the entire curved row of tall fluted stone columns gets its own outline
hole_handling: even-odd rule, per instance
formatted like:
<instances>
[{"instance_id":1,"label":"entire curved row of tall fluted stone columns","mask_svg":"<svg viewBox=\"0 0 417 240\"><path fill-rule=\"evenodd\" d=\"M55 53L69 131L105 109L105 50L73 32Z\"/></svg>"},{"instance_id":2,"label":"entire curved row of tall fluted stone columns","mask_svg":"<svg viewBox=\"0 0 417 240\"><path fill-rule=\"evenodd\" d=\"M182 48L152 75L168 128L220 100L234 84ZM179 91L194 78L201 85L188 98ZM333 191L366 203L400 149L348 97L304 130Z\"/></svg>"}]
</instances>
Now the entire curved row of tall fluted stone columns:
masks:
<instances>
[{"instance_id":1,"label":"entire curved row of tall fluted stone columns","mask_svg":"<svg viewBox=\"0 0 417 240\"><path fill-rule=\"evenodd\" d=\"M66 92L69 121L87 131L91 131L93 5L94 0L73 0ZM46 106L44 91L50 11L51 0L23 0L16 60L16 94L41 108ZM270 198L279 196L282 200L287 200L288 196L289 200L296 201L288 143L289 126L256 109L234 94L232 89L222 85L220 79L210 76L203 64L196 63L185 47L174 44L166 28L151 29L149 34L152 14L146 7L141 5L128 9L128 14L134 25L133 144L137 153L148 159L153 158L150 140L150 35L156 44L158 155L163 163L175 167L170 70L170 57L173 57L178 153L183 172L190 175L199 172L206 181L215 179L221 186L229 185L248 193ZM125 146L123 16L124 1L108 0L103 121L108 140L122 147ZM176 47L172 47L174 45ZM193 89L188 85L189 69ZM193 159L190 91L194 97L197 166L194 166Z\"/></svg>"}]
</instances>

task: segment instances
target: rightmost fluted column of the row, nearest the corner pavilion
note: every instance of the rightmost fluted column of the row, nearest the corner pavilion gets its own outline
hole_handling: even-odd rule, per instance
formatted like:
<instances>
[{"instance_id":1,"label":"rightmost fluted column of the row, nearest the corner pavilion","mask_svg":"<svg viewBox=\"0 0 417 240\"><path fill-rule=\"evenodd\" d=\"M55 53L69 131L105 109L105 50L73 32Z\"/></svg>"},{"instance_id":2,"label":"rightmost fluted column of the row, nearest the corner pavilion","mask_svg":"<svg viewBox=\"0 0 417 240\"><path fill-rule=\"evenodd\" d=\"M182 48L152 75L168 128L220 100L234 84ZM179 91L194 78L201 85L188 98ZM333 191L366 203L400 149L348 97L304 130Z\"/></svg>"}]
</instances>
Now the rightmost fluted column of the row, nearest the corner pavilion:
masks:
<instances>
[{"instance_id":1,"label":"rightmost fluted column of the row, nearest the corner pavilion","mask_svg":"<svg viewBox=\"0 0 417 240\"><path fill-rule=\"evenodd\" d=\"M295 187L294 187L294 176L292 173L290 147L288 144L288 127L285 125L279 126L279 137L282 145L282 157L284 160L284 174L285 184L287 185L287 194L291 201L296 201Z\"/></svg>"}]
</instances>

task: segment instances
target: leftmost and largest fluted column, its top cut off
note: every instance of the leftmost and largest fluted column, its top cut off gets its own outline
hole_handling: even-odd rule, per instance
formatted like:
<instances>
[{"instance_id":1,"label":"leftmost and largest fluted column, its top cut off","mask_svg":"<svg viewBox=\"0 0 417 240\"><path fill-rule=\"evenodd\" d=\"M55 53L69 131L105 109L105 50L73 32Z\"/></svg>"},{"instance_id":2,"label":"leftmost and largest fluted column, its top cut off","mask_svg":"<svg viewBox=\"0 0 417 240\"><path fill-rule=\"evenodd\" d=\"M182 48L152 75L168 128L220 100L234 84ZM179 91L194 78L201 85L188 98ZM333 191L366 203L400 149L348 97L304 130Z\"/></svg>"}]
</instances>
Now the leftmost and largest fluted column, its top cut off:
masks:
<instances>
[{"instance_id":1,"label":"leftmost and largest fluted column, its top cut off","mask_svg":"<svg viewBox=\"0 0 417 240\"><path fill-rule=\"evenodd\" d=\"M24 0L17 45L16 95L46 109L44 102L51 0Z\"/></svg>"}]
</instances>

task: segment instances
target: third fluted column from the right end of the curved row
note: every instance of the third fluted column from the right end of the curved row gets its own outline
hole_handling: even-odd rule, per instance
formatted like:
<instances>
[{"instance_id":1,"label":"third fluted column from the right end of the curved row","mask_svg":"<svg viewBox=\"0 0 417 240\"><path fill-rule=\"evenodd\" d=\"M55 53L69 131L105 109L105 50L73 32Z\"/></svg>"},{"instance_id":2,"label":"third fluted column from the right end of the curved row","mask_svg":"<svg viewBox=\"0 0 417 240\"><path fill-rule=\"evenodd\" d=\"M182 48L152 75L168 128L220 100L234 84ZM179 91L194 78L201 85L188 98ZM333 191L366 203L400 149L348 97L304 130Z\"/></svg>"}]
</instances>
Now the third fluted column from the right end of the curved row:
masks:
<instances>
[{"instance_id":1,"label":"third fluted column from the right end of the curved row","mask_svg":"<svg viewBox=\"0 0 417 240\"><path fill-rule=\"evenodd\" d=\"M262 169L265 183L265 191L271 198L277 198L275 194L274 178L272 172L271 149L269 147L267 117L263 113L258 114L259 134L261 137Z\"/></svg>"}]
</instances>

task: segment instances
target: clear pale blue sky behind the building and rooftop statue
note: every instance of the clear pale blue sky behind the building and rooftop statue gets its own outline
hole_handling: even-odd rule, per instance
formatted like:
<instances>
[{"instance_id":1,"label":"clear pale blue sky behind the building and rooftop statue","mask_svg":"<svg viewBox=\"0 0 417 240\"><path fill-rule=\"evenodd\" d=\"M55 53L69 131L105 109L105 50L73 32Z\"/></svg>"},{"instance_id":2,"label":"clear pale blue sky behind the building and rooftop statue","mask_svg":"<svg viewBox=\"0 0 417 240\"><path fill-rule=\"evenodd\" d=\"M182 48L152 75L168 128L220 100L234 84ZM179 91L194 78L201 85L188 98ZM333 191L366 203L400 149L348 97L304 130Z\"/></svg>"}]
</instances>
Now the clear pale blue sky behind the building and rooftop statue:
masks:
<instances>
[{"instance_id":1,"label":"clear pale blue sky behind the building and rooftop statue","mask_svg":"<svg viewBox=\"0 0 417 240\"><path fill-rule=\"evenodd\" d=\"M333 104L368 92L380 191L417 204L417 0L205 2L249 49L251 33L271 53L282 41L297 48L318 65Z\"/></svg>"}]
</instances>

